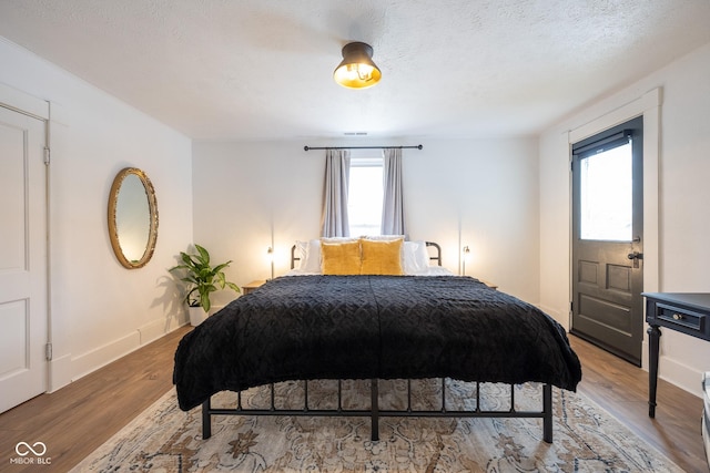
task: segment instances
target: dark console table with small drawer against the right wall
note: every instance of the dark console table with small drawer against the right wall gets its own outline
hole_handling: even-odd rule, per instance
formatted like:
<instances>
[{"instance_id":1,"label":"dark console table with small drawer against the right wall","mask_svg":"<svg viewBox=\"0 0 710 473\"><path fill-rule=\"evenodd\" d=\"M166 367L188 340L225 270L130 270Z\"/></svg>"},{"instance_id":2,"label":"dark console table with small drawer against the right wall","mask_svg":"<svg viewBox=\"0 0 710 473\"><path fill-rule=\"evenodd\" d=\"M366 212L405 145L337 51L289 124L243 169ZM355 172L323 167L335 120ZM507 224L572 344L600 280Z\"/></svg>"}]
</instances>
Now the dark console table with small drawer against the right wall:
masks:
<instances>
[{"instance_id":1,"label":"dark console table with small drawer against the right wall","mask_svg":"<svg viewBox=\"0 0 710 473\"><path fill-rule=\"evenodd\" d=\"M649 343L648 415L656 417L658 351L661 327L703 340L710 340L710 294L642 292L646 297L646 321Z\"/></svg>"}]
</instances>

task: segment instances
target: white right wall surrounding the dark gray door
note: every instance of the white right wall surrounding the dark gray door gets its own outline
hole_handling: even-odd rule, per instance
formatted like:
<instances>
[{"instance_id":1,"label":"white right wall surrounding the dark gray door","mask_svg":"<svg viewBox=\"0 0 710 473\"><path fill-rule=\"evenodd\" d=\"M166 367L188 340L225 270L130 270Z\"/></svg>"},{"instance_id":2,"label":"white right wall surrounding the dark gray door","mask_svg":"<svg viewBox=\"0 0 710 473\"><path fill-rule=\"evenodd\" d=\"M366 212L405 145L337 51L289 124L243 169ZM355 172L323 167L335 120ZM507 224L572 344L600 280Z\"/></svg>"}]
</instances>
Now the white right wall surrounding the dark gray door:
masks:
<instances>
[{"instance_id":1,"label":"white right wall surrounding the dark gray door","mask_svg":"<svg viewBox=\"0 0 710 473\"><path fill-rule=\"evenodd\" d=\"M658 206L657 235L646 232L645 289L710 290L710 44L642 81L590 104L540 137L540 304L567 323L569 307L569 150L567 132L609 116L661 88L658 128L658 191L645 203ZM645 141L646 144L646 141ZM646 152L646 150L645 150ZM646 173L646 169L645 169ZM645 183L648 184L648 183ZM648 220L648 218L647 218ZM646 223L645 223L646 227ZM700 373L710 370L710 343L663 330L660 377L699 394Z\"/></svg>"}]
</instances>

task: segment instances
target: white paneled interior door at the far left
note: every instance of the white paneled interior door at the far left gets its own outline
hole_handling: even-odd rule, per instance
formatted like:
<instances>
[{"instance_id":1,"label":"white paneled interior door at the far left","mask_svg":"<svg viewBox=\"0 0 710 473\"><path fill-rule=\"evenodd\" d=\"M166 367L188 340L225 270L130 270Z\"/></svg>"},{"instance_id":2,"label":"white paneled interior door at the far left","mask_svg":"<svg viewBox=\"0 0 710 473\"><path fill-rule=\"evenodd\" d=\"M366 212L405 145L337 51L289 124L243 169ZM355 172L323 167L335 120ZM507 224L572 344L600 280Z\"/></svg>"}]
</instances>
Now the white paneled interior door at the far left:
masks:
<instances>
[{"instance_id":1,"label":"white paneled interior door at the far left","mask_svg":"<svg viewBox=\"0 0 710 473\"><path fill-rule=\"evenodd\" d=\"M47 391L44 126L0 106L0 412Z\"/></svg>"}]
</instances>

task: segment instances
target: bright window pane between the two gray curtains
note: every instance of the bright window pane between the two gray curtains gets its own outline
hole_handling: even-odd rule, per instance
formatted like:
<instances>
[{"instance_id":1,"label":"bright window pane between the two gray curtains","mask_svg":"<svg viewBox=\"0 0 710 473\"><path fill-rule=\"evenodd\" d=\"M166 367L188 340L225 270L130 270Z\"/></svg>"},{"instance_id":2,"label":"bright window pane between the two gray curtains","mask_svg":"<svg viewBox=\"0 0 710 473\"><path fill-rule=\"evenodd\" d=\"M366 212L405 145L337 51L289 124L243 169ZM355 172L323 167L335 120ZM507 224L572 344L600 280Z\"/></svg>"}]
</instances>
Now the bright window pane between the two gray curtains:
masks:
<instances>
[{"instance_id":1,"label":"bright window pane between the two gray curtains","mask_svg":"<svg viewBox=\"0 0 710 473\"><path fill-rule=\"evenodd\" d=\"M351 236L379 235L382 228L382 153L351 156L347 217Z\"/></svg>"}]
</instances>

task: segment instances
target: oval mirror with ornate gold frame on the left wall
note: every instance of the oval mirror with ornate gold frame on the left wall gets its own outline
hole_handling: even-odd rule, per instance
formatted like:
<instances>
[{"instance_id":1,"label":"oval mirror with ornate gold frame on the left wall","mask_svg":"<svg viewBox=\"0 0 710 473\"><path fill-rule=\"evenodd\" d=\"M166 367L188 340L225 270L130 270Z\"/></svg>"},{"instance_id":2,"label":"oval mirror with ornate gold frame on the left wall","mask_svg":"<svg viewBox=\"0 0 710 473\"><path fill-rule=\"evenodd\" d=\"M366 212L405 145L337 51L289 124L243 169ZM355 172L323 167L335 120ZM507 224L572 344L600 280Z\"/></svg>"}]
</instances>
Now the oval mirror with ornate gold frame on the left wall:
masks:
<instances>
[{"instance_id":1,"label":"oval mirror with ornate gold frame on the left wall","mask_svg":"<svg viewBox=\"0 0 710 473\"><path fill-rule=\"evenodd\" d=\"M126 167L109 195L109 236L119 263L129 269L150 261L158 240L158 200L145 173Z\"/></svg>"}]
</instances>

